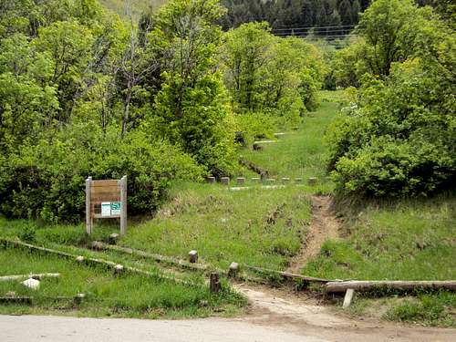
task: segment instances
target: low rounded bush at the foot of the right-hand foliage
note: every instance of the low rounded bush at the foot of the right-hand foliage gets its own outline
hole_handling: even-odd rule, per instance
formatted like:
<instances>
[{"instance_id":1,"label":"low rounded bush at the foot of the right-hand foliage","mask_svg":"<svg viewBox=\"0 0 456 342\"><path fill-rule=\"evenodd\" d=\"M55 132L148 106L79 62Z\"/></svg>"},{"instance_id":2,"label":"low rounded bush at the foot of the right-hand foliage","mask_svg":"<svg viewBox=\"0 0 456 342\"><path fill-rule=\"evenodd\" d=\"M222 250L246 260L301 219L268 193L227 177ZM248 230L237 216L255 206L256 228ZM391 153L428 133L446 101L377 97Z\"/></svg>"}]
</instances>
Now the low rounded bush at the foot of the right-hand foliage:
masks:
<instances>
[{"instance_id":1,"label":"low rounded bush at the foot of the right-hand foliage","mask_svg":"<svg viewBox=\"0 0 456 342\"><path fill-rule=\"evenodd\" d=\"M450 185L455 171L454 156L444 146L380 137L337 161L335 181L356 195L417 196Z\"/></svg>"}]
</instances>

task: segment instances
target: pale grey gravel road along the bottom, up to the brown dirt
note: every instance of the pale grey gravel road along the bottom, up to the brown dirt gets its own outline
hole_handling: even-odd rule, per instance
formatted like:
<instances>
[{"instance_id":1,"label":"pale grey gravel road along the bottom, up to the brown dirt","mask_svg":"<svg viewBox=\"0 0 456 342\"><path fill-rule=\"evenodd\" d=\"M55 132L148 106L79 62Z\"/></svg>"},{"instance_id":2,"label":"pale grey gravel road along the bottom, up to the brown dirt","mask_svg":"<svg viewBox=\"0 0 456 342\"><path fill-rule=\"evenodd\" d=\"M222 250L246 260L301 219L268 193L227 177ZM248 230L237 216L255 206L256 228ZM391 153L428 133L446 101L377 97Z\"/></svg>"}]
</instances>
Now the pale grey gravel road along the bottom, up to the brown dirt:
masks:
<instances>
[{"instance_id":1,"label":"pale grey gravel road along the bottom, up to the brown dirt","mask_svg":"<svg viewBox=\"0 0 456 342\"><path fill-rule=\"evenodd\" d=\"M326 342L225 319L179 321L0 316L2 342Z\"/></svg>"}]
</instances>

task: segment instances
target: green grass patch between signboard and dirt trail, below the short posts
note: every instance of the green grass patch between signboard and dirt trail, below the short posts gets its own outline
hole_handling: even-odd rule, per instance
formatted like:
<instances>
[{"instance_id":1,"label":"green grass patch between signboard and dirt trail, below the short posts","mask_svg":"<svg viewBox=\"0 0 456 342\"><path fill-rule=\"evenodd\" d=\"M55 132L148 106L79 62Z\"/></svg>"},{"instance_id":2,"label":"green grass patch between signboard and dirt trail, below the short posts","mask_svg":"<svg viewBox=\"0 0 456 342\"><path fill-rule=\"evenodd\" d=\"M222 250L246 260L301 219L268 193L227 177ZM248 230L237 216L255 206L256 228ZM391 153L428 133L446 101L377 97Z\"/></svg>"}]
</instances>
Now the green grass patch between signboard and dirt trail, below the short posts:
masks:
<instances>
[{"instance_id":1,"label":"green grass patch between signboard and dirt trail, below the short posts","mask_svg":"<svg viewBox=\"0 0 456 342\"><path fill-rule=\"evenodd\" d=\"M211 264L283 269L306 234L310 205L301 188L231 192L221 185L181 184L151 221L130 227L120 244Z\"/></svg>"}]
</instances>

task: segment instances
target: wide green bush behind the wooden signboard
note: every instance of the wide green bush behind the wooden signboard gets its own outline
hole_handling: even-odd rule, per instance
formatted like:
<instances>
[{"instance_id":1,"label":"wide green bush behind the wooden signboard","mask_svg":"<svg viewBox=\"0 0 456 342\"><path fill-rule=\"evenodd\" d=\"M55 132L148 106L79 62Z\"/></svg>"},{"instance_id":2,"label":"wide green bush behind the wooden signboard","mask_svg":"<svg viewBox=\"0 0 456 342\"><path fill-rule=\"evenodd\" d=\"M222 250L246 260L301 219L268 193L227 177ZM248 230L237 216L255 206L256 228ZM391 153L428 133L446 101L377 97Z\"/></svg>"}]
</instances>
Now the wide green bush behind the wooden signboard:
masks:
<instances>
[{"instance_id":1,"label":"wide green bush behind the wooden signboard","mask_svg":"<svg viewBox=\"0 0 456 342\"><path fill-rule=\"evenodd\" d=\"M175 178L198 179L202 168L164 141L142 132L119 140L94 127L62 130L54 140L24 145L0 165L0 210L7 217L77 222L85 211L85 180L128 175L129 214L150 213Z\"/></svg>"}]
</instances>

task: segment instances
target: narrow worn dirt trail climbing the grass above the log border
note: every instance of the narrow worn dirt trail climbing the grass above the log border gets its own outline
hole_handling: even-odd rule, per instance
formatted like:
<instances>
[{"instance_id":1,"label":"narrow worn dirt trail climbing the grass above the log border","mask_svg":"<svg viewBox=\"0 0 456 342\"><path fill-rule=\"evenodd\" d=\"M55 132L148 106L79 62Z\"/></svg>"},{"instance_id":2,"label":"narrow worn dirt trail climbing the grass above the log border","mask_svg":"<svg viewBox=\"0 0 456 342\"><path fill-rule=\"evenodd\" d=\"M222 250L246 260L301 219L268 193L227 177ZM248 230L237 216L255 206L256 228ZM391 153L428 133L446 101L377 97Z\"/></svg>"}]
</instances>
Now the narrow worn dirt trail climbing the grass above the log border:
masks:
<instances>
[{"instance_id":1,"label":"narrow worn dirt trail climbing the grass above the log border","mask_svg":"<svg viewBox=\"0 0 456 342\"><path fill-rule=\"evenodd\" d=\"M340 223L331 208L332 196L312 196L312 223L301 250L290 261L287 272L299 273L306 262L320 252L328 239L336 239Z\"/></svg>"}]
</instances>

